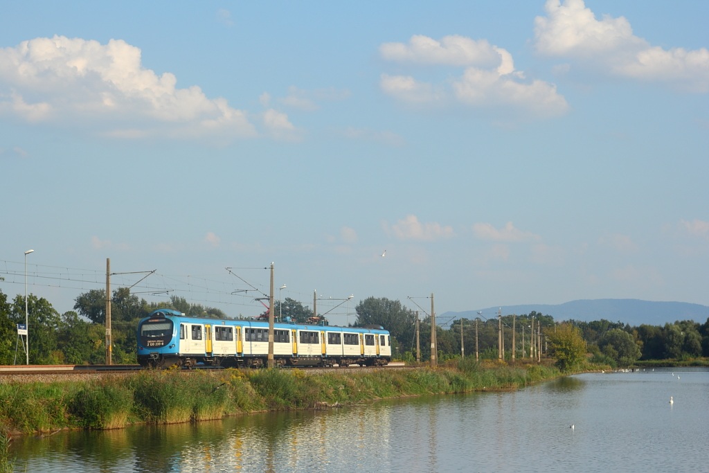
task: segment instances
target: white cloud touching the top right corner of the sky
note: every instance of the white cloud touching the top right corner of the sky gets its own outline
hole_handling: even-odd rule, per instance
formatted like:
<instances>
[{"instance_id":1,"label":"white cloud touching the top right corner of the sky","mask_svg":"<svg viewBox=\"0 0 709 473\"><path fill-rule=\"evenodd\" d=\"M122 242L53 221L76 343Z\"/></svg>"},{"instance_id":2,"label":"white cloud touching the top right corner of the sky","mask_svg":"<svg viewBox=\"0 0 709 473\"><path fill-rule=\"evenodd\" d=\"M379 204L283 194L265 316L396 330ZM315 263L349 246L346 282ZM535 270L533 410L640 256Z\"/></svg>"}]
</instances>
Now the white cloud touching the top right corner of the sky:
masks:
<instances>
[{"instance_id":1,"label":"white cloud touching the top right corner of the sky","mask_svg":"<svg viewBox=\"0 0 709 473\"><path fill-rule=\"evenodd\" d=\"M632 33L623 16L598 20L583 0L547 0L547 16L535 18L537 51L578 60L582 67L680 89L709 91L709 50L665 50Z\"/></svg>"}]
</instances>

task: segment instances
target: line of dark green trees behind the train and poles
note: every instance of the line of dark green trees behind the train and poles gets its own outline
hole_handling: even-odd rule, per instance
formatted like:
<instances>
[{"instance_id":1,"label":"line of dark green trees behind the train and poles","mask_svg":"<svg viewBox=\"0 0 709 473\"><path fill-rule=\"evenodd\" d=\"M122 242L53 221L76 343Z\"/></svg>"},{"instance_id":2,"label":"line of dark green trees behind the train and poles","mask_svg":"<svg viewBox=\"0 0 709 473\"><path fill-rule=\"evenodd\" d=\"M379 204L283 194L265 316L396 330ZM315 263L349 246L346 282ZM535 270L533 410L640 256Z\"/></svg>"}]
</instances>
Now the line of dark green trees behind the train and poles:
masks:
<instances>
[{"instance_id":1,"label":"line of dark green trees behind the train and poles","mask_svg":"<svg viewBox=\"0 0 709 473\"><path fill-rule=\"evenodd\" d=\"M58 313L49 301L33 294L28 296L30 362L33 365L102 364L106 360L106 291L94 289L74 299L74 311ZM111 294L111 331L113 362L135 363L135 331L138 321L156 308L173 308L187 316L209 318L243 318L218 308L191 304L178 296L159 304L140 299L125 287ZM415 326L419 318L419 346L421 360L430 359L431 323L427 313L419 315L386 297L368 297L355 307L357 318L352 325L381 325L392 335L392 353L403 360L416 356ZM308 306L286 298L275 304L274 315L295 323L306 323L313 314ZM267 316L267 311L261 314ZM256 315L253 318L258 318ZM23 364L23 345L18 340L17 324L25 321L25 298L18 295L8 299L0 291L0 365ZM437 359L441 362L461 356L475 356L476 340L482 360L498 358L498 327L503 325L504 357L529 358L531 333L541 328L542 353L554 355L566 368L590 357L592 362L627 366L637 360L688 360L709 357L709 319L703 323L677 321L664 326L640 325L631 327L605 319L593 322L566 321L557 323L552 316L532 311L519 316L501 318L462 318L437 321ZM324 321L323 323L327 323ZM513 347L513 328L515 332ZM461 330L462 343L461 345ZM538 335L537 335L538 336ZM538 340L538 338L537 338ZM579 355L579 353L581 355Z\"/></svg>"}]
</instances>

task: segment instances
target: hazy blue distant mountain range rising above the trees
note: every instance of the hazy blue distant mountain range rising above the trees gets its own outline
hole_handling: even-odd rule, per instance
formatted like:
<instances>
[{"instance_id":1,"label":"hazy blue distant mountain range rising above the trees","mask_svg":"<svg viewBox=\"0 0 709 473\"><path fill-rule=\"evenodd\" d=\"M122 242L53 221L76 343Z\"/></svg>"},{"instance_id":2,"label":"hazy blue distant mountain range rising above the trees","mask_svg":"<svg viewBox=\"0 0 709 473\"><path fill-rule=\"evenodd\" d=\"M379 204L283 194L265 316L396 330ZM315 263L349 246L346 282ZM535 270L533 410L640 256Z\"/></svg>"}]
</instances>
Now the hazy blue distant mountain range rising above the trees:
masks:
<instances>
[{"instance_id":1,"label":"hazy blue distant mountain range rising above the trees","mask_svg":"<svg viewBox=\"0 0 709 473\"><path fill-rule=\"evenodd\" d=\"M474 319L478 311L486 318L497 315L500 307L481 308L475 311L445 312L441 319ZM642 324L664 325L676 321L695 321L705 323L709 318L709 307L687 302L653 302L640 299L582 299L565 302L564 304L522 304L519 306L502 306L502 315L523 315L532 311L545 316L554 317L554 321L598 321L605 318L611 322L627 323L631 326Z\"/></svg>"}]
</instances>

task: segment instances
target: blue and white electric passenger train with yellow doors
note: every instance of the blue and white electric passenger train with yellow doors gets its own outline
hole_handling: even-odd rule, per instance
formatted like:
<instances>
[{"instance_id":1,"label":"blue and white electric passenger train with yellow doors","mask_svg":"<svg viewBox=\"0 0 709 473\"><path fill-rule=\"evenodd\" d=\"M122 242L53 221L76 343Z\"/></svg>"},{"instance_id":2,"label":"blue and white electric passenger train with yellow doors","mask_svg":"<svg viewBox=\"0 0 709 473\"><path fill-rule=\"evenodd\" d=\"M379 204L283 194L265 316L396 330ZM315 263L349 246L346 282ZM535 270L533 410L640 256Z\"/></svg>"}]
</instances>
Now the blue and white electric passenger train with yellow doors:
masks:
<instances>
[{"instance_id":1,"label":"blue and white electric passenger train with yellow doors","mask_svg":"<svg viewBox=\"0 0 709 473\"><path fill-rule=\"evenodd\" d=\"M267 364L269 324L256 320L186 317L160 308L138 324L144 367L261 367ZM274 324L274 362L286 366L386 365L389 331L296 323Z\"/></svg>"}]
</instances>

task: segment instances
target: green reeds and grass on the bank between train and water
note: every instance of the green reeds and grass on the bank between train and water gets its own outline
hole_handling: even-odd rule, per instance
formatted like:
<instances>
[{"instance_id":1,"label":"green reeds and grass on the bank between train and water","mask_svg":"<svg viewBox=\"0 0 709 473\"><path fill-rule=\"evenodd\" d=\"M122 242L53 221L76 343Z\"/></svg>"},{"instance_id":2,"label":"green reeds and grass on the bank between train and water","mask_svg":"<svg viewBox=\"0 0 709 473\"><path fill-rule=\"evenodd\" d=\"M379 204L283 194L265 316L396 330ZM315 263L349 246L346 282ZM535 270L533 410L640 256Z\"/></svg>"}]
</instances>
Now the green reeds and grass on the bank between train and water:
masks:
<instances>
[{"instance_id":1,"label":"green reeds and grass on the bank between train and water","mask_svg":"<svg viewBox=\"0 0 709 473\"><path fill-rule=\"evenodd\" d=\"M9 383L0 384L0 432L111 429L399 396L513 390L560 375L558 369L542 365L484 367L474 360L459 360L437 369L165 370L89 382Z\"/></svg>"}]
</instances>

